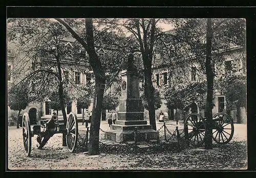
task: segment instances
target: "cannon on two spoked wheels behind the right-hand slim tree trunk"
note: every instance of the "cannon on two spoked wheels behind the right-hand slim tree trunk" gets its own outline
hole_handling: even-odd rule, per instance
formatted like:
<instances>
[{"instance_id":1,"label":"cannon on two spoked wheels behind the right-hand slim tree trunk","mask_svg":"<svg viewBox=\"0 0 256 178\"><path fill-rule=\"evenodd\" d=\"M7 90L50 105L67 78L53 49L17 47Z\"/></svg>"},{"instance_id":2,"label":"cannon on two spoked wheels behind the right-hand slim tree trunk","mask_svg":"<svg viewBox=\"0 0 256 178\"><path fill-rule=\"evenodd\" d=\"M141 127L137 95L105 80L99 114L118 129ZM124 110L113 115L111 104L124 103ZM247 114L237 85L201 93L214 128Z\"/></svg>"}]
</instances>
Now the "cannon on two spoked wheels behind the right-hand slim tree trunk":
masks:
<instances>
[{"instance_id":1,"label":"cannon on two spoked wheels behind the right-hand slim tree trunk","mask_svg":"<svg viewBox=\"0 0 256 178\"><path fill-rule=\"evenodd\" d=\"M206 125L212 129L212 139L218 144L227 144L233 137L234 124L226 113L215 114L210 122L197 113L191 113L184 121L185 138L189 144L200 146L204 143Z\"/></svg>"}]
</instances>

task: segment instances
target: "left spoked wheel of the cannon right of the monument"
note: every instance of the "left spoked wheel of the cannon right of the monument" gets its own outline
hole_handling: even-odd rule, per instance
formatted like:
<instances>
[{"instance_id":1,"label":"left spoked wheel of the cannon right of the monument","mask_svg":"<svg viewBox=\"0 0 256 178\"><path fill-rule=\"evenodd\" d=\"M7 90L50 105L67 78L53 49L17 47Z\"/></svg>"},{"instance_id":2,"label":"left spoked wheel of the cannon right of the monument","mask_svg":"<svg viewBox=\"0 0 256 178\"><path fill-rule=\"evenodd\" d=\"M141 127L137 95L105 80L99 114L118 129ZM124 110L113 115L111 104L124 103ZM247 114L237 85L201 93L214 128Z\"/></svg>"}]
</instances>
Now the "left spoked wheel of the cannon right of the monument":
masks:
<instances>
[{"instance_id":1,"label":"left spoked wheel of the cannon right of the monument","mask_svg":"<svg viewBox=\"0 0 256 178\"><path fill-rule=\"evenodd\" d=\"M205 140L206 125L197 113L189 114L184 122L185 138L193 146L200 146Z\"/></svg>"}]
</instances>

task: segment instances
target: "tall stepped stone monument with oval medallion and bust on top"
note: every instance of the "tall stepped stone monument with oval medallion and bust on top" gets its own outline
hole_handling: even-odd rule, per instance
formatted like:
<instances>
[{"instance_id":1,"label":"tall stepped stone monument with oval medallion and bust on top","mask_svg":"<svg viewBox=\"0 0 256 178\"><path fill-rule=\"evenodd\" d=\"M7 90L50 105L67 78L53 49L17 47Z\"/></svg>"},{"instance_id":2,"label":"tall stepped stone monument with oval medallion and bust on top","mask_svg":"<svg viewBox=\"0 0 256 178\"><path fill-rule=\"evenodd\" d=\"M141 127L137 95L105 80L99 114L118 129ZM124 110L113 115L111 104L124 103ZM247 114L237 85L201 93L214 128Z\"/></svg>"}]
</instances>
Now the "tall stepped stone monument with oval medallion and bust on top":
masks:
<instances>
[{"instance_id":1,"label":"tall stepped stone monument with oval medallion and bust on top","mask_svg":"<svg viewBox=\"0 0 256 178\"><path fill-rule=\"evenodd\" d=\"M116 142L134 141L137 128L138 140L158 140L159 134L144 120L142 100L139 97L139 72L133 54L127 55L127 69L121 73L121 96L118 120L105 131L105 139Z\"/></svg>"}]
</instances>

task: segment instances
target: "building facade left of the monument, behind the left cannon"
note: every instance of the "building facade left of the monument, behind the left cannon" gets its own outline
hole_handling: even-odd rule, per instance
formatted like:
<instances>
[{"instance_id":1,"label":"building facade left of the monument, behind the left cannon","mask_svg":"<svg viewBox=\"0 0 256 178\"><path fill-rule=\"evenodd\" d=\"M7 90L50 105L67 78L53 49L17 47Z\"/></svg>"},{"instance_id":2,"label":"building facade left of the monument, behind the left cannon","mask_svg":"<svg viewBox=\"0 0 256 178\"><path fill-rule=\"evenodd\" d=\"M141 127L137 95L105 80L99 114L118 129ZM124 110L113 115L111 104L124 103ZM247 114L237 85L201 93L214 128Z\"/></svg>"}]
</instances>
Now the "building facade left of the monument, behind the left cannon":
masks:
<instances>
[{"instance_id":1,"label":"building facade left of the monument, behind the left cannon","mask_svg":"<svg viewBox=\"0 0 256 178\"><path fill-rule=\"evenodd\" d=\"M62 45L70 46L71 48L72 43L75 40L73 38L66 38L61 40ZM24 58L22 55L15 55L15 47L9 45L8 46L8 57L7 57L7 89L9 91L10 87L12 85L18 84L20 81L24 80L29 72L31 71L37 71L41 69L48 69L51 72L56 72L55 67L56 66L56 59L49 58L48 56L40 56L36 60L34 59L28 59ZM73 49L71 49L73 50ZM95 47L95 50L99 56L105 55L105 51L101 47ZM84 50L82 47L79 48L79 51L77 51L78 54L82 55L84 59L88 59L89 56L86 53L86 50ZM14 55L13 55L14 54ZM26 65L24 63L21 63L20 61L26 60ZM69 114L70 112L73 112L77 114L78 119L82 118L82 108L77 106L77 98L81 96L82 93L81 89L84 87L94 87L94 79L93 79L93 71L88 64L88 61L76 61L72 58L65 58L61 59L61 77L62 82L66 83L64 87L70 88L70 98L71 100L68 101L67 107L65 108L66 113ZM32 88L34 87L34 82L36 82L36 79L32 81L28 87ZM44 84L42 84L44 85ZM54 89L53 89L54 90ZM56 90L55 90L56 91ZM93 97L92 97L93 98ZM24 112L31 111L31 108L35 108L36 112L41 118L51 118L53 113L58 113L59 118L62 118L62 112L60 111L54 111L51 108L51 100L49 97L46 97L44 101L41 103L30 103L25 110L21 112L23 114ZM93 101L92 101L93 103ZM92 103L89 107L89 112L92 112ZM10 108L8 107L8 113L10 113Z\"/></svg>"}]
</instances>

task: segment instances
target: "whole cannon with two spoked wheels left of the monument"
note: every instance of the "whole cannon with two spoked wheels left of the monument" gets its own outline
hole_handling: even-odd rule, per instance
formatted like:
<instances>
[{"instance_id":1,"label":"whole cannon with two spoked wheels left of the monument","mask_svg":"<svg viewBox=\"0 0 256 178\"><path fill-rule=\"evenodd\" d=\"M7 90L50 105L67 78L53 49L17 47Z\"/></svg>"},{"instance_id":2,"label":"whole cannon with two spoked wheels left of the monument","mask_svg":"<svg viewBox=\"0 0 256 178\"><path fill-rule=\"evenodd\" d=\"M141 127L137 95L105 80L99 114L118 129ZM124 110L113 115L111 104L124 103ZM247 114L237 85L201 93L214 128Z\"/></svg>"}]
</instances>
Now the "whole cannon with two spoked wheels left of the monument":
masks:
<instances>
[{"instance_id":1,"label":"whole cannon with two spoked wheels left of the monument","mask_svg":"<svg viewBox=\"0 0 256 178\"><path fill-rule=\"evenodd\" d=\"M35 108L34 108L35 109ZM47 141L54 134L63 134L66 137L67 148L69 152L74 152L78 139L78 122L77 116L70 113L67 118L67 123L59 123L57 115L53 115L48 120L41 120L36 109L30 109L29 113L24 113L22 119L22 135L23 144L26 155L29 157L31 153L32 137L37 135L38 149L42 149Z\"/></svg>"}]
</instances>

